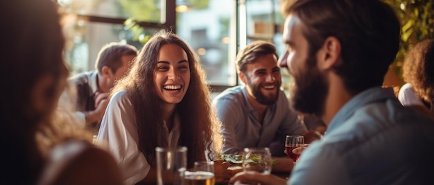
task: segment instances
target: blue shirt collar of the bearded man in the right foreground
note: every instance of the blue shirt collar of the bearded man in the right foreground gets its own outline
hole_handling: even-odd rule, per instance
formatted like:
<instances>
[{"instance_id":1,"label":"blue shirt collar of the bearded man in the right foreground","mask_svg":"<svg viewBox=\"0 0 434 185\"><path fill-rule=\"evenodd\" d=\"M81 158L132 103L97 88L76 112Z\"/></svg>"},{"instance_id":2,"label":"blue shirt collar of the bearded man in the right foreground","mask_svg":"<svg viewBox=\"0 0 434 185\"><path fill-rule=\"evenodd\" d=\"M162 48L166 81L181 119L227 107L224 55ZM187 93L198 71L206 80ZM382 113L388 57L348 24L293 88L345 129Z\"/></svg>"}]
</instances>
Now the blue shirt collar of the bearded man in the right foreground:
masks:
<instances>
[{"instance_id":1,"label":"blue shirt collar of the bearded man in the right foreground","mask_svg":"<svg viewBox=\"0 0 434 185\"><path fill-rule=\"evenodd\" d=\"M336 130L340 124L349 119L349 117L351 117L354 112L358 110L358 108L375 101L381 101L381 99L390 98L396 99L392 88L375 87L358 93L358 95L350 99L347 104L342 106L333 119L331 119L331 122L327 128L327 133L331 133L333 130Z\"/></svg>"}]
</instances>

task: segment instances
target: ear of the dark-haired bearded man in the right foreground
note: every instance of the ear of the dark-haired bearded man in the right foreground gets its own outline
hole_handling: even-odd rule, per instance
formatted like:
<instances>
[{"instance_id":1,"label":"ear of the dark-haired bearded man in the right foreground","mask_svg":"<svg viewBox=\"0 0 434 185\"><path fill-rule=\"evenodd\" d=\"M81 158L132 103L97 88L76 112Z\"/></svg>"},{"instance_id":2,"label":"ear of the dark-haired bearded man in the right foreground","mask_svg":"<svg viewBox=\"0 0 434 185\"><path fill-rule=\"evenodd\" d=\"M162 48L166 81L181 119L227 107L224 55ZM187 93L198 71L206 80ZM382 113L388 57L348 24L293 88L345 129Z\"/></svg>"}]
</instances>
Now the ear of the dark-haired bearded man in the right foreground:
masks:
<instances>
[{"instance_id":1,"label":"ear of the dark-haired bearded man in the right foreground","mask_svg":"<svg viewBox=\"0 0 434 185\"><path fill-rule=\"evenodd\" d=\"M341 45L336 37L327 37L318 52L318 68L330 69L340 60Z\"/></svg>"}]
</instances>

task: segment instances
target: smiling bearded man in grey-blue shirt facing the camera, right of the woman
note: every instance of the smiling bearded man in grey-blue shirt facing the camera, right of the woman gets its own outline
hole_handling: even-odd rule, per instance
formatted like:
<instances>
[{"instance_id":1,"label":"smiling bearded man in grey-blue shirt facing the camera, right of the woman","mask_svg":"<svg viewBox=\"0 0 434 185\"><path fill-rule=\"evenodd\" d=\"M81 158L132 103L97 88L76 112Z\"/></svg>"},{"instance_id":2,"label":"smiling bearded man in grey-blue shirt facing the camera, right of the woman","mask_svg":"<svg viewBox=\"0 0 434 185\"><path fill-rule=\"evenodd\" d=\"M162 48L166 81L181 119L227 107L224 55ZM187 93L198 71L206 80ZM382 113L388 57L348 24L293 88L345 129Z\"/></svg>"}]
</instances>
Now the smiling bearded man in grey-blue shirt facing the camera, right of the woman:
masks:
<instances>
[{"instance_id":1,"label":"smiling bearded man in grey-blue shirt facing the camera, right of the woman","mask_svg":"<svg viewBox=\"0 0 434 185\"><path fill-rule=\"evenodd\" d=\"M277 59L274 44L249 43L236 56L238 77L245 85L224 90L213 103L223 123L223 153L240 154L247 147L268 147L272 156L285 156L278 159L279 166L290 171L293 162L284 153L286 135L308 132L280 89ZM279 170L279 166L273 166L273 170Z\"/></svg>"}]
</instances>

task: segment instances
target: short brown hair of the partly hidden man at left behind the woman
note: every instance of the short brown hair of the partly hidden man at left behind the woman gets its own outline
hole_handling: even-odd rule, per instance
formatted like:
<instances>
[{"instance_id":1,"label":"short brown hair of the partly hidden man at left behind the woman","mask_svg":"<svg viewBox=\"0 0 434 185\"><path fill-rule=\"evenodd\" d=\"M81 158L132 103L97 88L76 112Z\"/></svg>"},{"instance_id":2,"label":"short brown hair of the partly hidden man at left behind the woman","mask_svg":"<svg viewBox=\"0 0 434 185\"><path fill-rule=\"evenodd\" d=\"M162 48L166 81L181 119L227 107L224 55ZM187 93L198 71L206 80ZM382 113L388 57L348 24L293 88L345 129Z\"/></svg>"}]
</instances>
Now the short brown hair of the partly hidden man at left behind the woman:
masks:
<instances>
[{"instance_id":1,"label":"short brown hair of the partly hidden man at left behind the woman","mask_svg":"<svg viewBox=\"0 0 434 185\"><path fill-rule=\"evenodd\" d=\"M107 43L98 52L95 68L98 73L103 70L104 66L109 67L112 72L116 72L122 66L122 57L126 55L137 56L137 48L127 43Z\"/></svg>"}]
</instances>

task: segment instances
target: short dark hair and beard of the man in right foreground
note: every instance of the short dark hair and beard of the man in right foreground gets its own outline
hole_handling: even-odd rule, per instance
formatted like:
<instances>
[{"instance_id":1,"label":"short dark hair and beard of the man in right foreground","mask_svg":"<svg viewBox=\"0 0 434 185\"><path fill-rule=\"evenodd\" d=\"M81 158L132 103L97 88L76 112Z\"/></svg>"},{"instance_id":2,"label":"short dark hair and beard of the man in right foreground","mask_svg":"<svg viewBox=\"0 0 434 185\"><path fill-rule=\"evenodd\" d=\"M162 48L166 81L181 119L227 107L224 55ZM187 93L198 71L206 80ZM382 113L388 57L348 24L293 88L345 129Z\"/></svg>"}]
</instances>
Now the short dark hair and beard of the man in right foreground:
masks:
<instances>
[{"instance_id":1,"label":"short dark hair and beard of the man in right foreground","mask_svg":"<svg viewBox=\"0 0 434 185\"><path fill-rule=\"evenodd\" d=\"M351 93L383 85L401 37L399 19L388 4L379 0L282 0L281 10L301 20L309 55L314 56L327 37L340 41L342 62L333 68Z\"/></svg>"}]
</instances>

